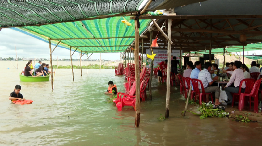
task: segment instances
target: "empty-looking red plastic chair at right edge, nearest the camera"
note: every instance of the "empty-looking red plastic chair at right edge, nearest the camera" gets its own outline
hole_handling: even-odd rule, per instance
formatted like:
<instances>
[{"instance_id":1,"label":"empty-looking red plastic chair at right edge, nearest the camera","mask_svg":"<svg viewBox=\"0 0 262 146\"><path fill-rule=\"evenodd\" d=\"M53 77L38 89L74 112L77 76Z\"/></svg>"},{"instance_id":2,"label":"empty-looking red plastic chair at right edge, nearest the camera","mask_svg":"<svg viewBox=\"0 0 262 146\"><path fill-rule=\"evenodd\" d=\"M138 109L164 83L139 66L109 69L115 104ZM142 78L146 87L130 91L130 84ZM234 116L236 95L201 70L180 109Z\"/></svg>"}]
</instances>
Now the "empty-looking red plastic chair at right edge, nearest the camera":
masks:
<instances>
[{"instance_id":1,"label":"empty-looking red plastic chair at right edge, nearest the camera","mask_svg":"<svg viewBox=\"0 0 262 146\"><path fill-rule=\"evenodd\" d=\"M240 99L239 99L239 111L242 111L244 109L244 100L245 97L249 97L249 108L251 109L251 97L254 97L254 112L257 113L258 109L258 88L261 84L261 79L257 80L253 86L253 89L251 90L251 93L241 93Z\"/></svg>"}]
</instances>

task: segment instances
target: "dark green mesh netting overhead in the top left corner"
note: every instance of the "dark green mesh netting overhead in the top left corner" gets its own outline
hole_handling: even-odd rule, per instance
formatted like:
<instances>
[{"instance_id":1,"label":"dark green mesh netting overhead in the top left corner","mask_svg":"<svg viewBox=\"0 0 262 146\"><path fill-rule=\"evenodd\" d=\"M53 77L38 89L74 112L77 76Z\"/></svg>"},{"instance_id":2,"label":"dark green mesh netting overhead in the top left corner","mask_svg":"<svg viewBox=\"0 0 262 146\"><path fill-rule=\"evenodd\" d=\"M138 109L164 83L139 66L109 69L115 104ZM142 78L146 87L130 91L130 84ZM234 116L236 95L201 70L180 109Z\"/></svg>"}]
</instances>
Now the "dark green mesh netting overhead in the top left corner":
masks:
<instances>
[{"instance_id":1,"label":"dark green mesh netting overhead in the top left corner","mask_svg":"<svg viewBox=\"0 0 262 146\"><path fill-rule=\"evenodd\" d=\"M0 27L137 11L143 0L0 0Z\"/></svg>"}]
</instances>

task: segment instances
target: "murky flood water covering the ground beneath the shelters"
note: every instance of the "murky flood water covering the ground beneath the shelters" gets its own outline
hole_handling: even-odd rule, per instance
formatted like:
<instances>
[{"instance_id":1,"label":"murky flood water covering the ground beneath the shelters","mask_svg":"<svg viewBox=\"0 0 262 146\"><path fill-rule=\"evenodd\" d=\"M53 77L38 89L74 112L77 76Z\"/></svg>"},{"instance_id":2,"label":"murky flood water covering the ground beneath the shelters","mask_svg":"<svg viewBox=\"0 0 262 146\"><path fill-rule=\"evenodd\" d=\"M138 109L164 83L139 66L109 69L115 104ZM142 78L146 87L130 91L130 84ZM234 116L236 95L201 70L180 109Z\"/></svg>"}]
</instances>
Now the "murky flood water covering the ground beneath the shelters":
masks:
<instances>
[{"instance_id":1,"label":"murky flood water covering the ground beneath the shelters","mask_svg":"<svg viewBox=\"0 0 262 146\"><path fill-rule=\"evenodd\" d=\"M153 78L153 99L141 102L140 128L134 128L135 111L124 107L117 111L104 92L108 81L123 92L123 76L115 76L113 69L57 69L54 91L49 82L20 82L21 69L7 69L0 61L0 145L9 146L199 146L199 145L259 145L261 123L239 123L227 118L199 119L187 113L181 116L184 101L175 87L171 87L170 117L158 121L165 114L166 86ZM14 86L22 86L24 98L34 102L15 105L8 100ZM195 110L195 109L191 109Z\"/></svg>"}]
</instances>

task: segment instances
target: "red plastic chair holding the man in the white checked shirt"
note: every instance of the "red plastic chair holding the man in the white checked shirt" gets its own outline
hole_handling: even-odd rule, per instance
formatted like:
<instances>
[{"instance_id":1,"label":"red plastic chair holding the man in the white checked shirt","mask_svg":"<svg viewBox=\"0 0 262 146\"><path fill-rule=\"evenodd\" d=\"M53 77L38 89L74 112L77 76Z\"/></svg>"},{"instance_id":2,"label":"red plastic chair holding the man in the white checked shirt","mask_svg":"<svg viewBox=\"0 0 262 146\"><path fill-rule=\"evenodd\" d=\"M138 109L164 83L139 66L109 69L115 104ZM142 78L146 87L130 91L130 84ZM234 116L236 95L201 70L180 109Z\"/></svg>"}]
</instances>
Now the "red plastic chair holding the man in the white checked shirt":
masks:
<instances>
[{"instance_id":1,"label":"red plastic chair holding the man in the white checked shirt","mask_svg":"<svg viewBox=\"0 0 262 146\"><path fill-rule=\"evenodd\" d=\"M205 89L203 87L202 81L200 81L198 79L192 79L192 81L193 81L192 84L194 85L193 87L194 87L194 90L195 90L196 94L199 94L199 104L202 105L202 97L204 95L210 95L211 100L212 100L212 104L213 104L212 94L211 93L205 93ZM201 86L201 89L202 89L202 93L200 93L200 91L199 91L198 83L200 83L200 86ZM203 101L206 102L205 100L206 100L206 98L204 98ZM196 101L196 98L195 98L195 101Z\"/></svg>"}]
</instances>

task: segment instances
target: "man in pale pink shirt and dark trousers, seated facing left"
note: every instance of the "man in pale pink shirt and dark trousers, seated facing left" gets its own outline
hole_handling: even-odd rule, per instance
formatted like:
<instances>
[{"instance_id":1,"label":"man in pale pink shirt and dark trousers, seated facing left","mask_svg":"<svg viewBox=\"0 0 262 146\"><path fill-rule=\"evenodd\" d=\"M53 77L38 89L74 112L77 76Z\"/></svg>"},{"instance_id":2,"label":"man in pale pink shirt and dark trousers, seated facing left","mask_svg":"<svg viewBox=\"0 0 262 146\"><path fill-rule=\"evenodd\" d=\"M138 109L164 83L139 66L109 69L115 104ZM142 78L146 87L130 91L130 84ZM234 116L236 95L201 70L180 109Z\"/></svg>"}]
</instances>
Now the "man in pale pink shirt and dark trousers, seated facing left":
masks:
<instances>
[{"instance_id":1,"label":"man in pale pink shirt and dark trousers, seated facing left","mask_svg":"<svg viewBox=\"0 0 262 146\"><path fill-rule=\"evenodd\" d=\"M226 101L227 103L232 103L233 97L232 97L231 93L238 93L240 82L243 79L245 79L244 72L243 72L242 69L240 69L241 65L242 65L242 62L240 62L240 61L234 62L234 65L233 65L234 71L232 73L232 76L230 77L229 82L226 84L226 87L225 87L226 95L227 95L227 98L228 98L228 100ZM256 66L253 66L253 67L256 68ZM234 83L234 87L230 87L230 85L232 83ZM245 92L245 88L246 88L245 83L242 84L241 88L242 88L241 92Z\"/></svg>"}]
</instances>

